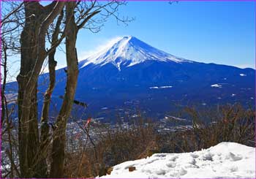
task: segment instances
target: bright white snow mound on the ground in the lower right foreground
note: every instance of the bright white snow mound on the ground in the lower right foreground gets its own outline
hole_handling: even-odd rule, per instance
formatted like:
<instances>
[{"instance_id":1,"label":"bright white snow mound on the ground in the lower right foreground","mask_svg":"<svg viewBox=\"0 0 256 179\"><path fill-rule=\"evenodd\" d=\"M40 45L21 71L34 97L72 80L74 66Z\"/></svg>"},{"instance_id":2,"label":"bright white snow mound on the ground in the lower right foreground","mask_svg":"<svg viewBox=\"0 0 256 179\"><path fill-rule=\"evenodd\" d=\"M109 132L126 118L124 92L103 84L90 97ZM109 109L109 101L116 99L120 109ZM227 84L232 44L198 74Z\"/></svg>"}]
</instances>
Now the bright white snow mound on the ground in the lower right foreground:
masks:
<instances>
[{"instance_id":1,"label":"bright white snow mound on the ground in the lower right foreground","mask_svg":"<svg viewBox=\"0 0 256 179\"><path fill-rule=\"evenodd\" d=\"M255 178L255 148L221 142L193 153L156 153L118 164L101 178Z\"/></svg>"}]
</instances>

